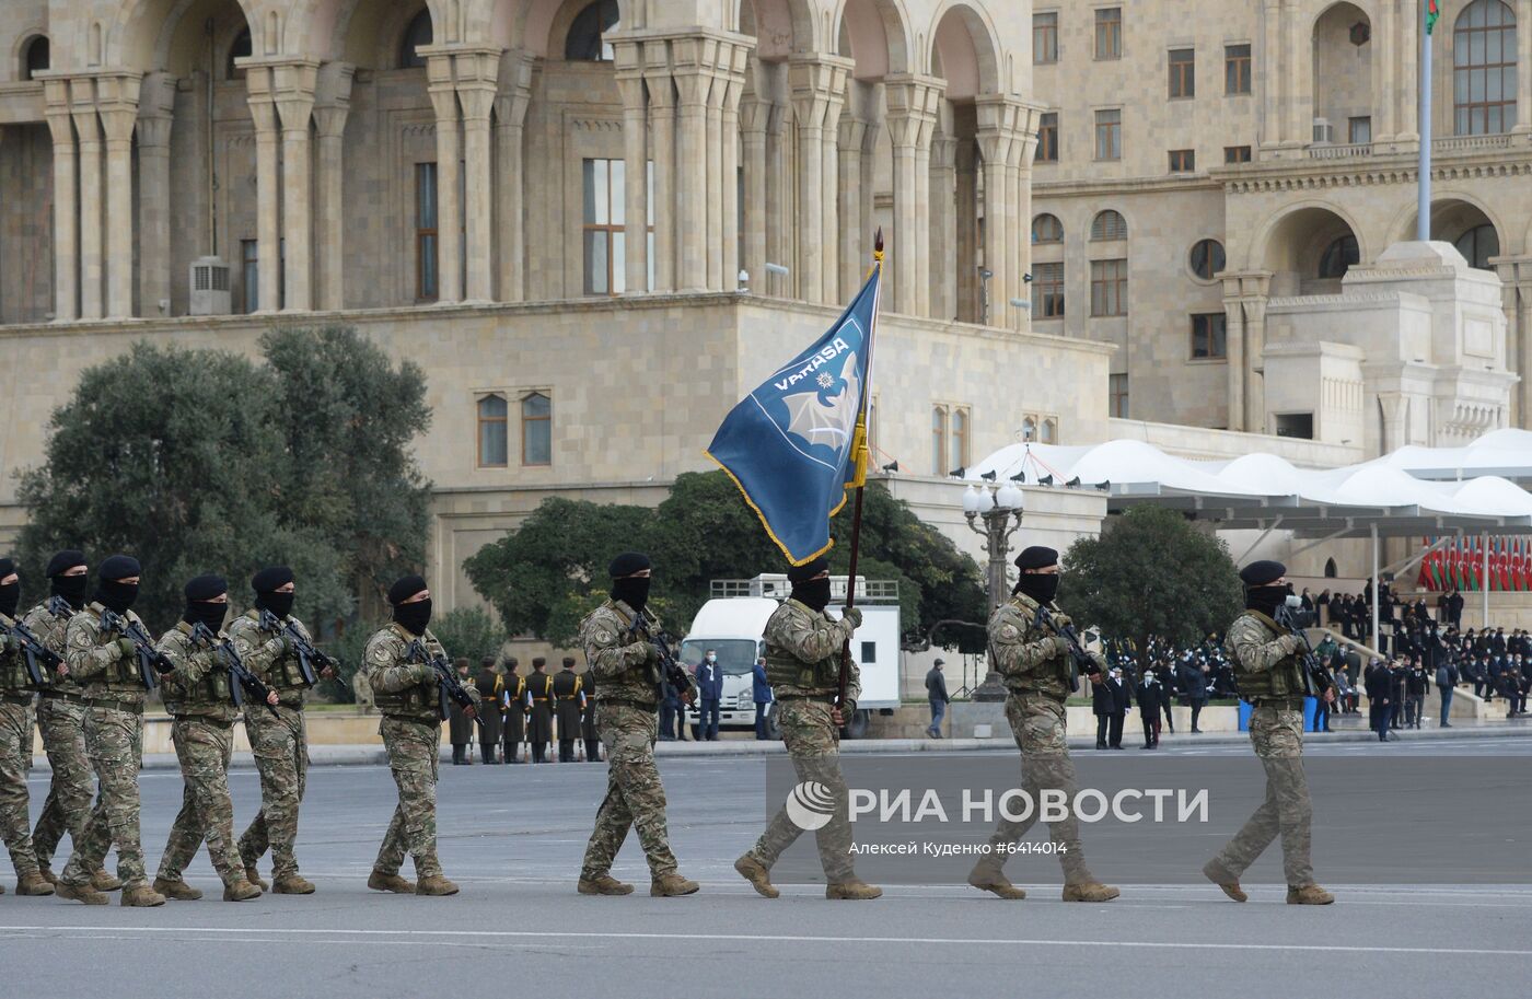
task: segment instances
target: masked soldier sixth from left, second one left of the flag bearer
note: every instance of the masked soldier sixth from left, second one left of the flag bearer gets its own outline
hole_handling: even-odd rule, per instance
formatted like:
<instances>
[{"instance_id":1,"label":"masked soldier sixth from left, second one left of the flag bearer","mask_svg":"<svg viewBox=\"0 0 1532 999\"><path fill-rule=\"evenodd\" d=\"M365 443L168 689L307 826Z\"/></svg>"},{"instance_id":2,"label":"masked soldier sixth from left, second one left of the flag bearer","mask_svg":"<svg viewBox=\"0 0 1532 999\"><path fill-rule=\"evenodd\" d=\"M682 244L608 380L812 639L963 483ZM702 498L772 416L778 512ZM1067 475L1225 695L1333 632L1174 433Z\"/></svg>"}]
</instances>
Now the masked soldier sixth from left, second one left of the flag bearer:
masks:
<instances>
[{"instance_id":1,"label":"masked soldier sixth from left, second one left of the flag bearer","mask_svg":"<svg viewBox=\"0 0 1532 999\"><path fill-rule=\"evenodd\" d=\"M388 599L394 621L368 639L362 668L383 712L378 734L398 784L398 806L368 887L400 895L457 895L458 886L441 876L437 860L437 765L447 706L430 660L444 659L447 651L426 628L430 590L424 579L404 576L389 587ZM417 881L398 873L406 852L415 861Z\"/></svg>"}]
</instances>

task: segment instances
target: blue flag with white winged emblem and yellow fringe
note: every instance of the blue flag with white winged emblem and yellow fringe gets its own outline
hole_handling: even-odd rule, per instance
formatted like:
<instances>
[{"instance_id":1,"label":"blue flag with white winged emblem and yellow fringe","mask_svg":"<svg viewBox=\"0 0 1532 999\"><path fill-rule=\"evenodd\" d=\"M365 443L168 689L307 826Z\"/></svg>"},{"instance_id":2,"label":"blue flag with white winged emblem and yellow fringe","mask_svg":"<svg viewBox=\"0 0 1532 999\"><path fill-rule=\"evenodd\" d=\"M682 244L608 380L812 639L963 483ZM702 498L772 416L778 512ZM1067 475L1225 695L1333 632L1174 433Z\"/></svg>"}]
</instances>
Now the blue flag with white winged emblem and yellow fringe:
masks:
<instances>
[{"instance_id":1,"label":"blue flag with white winged emblem and yellow fringe","mask_svg":"<svg viewBox=\"0 0 1532 999\"><path fill-rule=\"evenodd\" d=\"M723 418L708 457L794 565L824 555L846 489L867 473L867 386L882 262L829 332Z\"/></svg>"}]
</instances>

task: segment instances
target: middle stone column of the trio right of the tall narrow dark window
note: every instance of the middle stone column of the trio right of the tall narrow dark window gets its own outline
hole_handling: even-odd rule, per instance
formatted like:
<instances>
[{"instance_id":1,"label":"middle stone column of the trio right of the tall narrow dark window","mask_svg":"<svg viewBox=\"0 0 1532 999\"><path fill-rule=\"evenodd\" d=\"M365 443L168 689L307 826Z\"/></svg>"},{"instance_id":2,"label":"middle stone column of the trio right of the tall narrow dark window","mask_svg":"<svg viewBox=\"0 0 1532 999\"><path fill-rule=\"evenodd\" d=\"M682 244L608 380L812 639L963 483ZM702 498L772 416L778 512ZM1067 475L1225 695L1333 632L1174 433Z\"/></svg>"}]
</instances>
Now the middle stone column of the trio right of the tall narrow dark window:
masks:
<instances>
[{"instance_id":1,"label":"middle stone column of the trio right of the tall narrow dark window","mask_svg":"<svg viewBox=\"0 0 1532 999\"><path fill-rule=\"evenodd\" d=\"M495 80L499 49L464 49L457 60L458 101L463 104L463 208L467 274L467 300L495 297L493 173L490 170L490 112L495 107Z\"/></svg>"}]
</instances>

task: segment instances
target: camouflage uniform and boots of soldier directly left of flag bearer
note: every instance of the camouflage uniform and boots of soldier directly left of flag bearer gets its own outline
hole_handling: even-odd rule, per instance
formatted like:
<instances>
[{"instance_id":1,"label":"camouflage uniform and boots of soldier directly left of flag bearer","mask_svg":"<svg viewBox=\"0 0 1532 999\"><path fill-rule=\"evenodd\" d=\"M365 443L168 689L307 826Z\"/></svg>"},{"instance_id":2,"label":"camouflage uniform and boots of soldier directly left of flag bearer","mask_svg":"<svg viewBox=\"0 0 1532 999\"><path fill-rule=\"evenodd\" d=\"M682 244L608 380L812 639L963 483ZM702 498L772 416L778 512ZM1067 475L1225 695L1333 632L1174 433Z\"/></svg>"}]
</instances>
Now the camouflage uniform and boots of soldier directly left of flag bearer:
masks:
<instances>
[{"instance_id":1,"label":"camouflage uniform and boots of soldier directly left of flag bearer","mask_svg":"<svg viewBox=\"0 0 1532 999\"><path fill-rule=\"evenodd\" d=\"M650 863L651 876L676 873L665 824L665 786L654 766L654 740L659 737L660 667L659 650L631 639L628 627L634 611L622 601L608 599L579 627L585 662L601 682L596 696L596 731L607 743L607 797L596 811L596 829L585 847L581 879L594 881L611 870L611 861L628 838L628 827L639 834L639 846ZM651 631L659 631L651 619Z\"/></svg>"}]
</instances>

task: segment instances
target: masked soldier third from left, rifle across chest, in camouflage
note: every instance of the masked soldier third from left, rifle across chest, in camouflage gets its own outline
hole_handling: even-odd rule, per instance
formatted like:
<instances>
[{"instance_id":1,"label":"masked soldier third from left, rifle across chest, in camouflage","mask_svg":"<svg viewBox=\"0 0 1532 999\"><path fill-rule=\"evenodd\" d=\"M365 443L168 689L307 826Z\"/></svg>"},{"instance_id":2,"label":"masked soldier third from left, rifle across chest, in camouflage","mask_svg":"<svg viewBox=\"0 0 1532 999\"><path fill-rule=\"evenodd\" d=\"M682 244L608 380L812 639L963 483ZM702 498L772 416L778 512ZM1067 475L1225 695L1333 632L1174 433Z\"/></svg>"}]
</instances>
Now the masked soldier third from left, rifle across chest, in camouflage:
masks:
<instances>
[{"instance_id":1,"label":"masked soldier third from left, rifle across chest, in camouflage","mask_svg":"<svg viewBox=\"0 0 1532 999\"><path fill-rule=\"evenodd\" d=\"M113 555L101 562L95 601L69 619L64 633L69 674L83 686L86 705L86 755L101 786L100 807L86 821L75 852L58 879L58 896L87 906L106 906L92 887L92 872L101 867L116 843L116 873L123 879L123 906L164 906L165 896L149 887L144 849L138 834L138 769L144 760L144 697L147 685L139 670L136 644L104 627L104 617L123 617L142 627L130 607L138 598L138 559Z\"/></svg>"}]
</instances>

